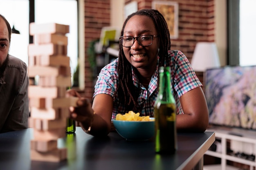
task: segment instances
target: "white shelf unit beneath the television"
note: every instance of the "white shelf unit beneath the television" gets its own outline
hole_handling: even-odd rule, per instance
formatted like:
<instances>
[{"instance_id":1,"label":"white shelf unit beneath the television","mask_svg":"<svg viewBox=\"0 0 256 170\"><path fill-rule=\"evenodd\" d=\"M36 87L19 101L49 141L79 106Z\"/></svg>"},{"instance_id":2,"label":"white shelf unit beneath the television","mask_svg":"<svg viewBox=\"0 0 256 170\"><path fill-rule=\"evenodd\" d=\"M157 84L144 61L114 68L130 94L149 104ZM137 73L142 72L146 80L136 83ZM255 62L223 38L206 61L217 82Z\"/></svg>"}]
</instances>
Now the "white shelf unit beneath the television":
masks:
<instances>
[{"instance_id":1,"label":"white shelf unit beneath the television","mask_svg":"<svg viewBox=\"0 0 256 170\"><path fill-rule=\"evenodd\" d=\"M204 165L204 170L239 170L239 168L228 166L227 161L233 161L241 164L248 165L250 170L256 167L256 160L250 161L243 158L227 155L227 140L239 141L246 147L246 144L253 145L253 153L256 153L256 131L245 130L239 128L208 128L207 131L214 131L216 139L221 141L221 152L214 152L208 150L205 155L218 157L221 159L221 164L217 165Z\"/></svg>"}]
</instances>

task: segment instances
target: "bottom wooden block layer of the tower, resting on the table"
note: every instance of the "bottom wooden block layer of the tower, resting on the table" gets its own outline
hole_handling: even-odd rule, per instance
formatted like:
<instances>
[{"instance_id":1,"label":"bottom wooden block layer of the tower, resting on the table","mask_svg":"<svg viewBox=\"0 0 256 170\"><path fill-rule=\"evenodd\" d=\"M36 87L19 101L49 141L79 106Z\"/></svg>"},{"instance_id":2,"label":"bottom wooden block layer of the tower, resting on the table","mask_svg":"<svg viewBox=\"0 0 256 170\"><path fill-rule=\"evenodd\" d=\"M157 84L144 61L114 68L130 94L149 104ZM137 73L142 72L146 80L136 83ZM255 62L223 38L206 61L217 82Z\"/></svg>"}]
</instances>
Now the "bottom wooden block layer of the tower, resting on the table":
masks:
<instances>
[{"instance_id":1,"label":"bottom wooden block layer of the tower, resting on the table","mask_svg":"<svg viewBox=\"0 0 256 170\"><path fill-rule=\"evenodd\" d=\"M57 148L49 152L30 150L30 158L32 161L60 162L67 159L67 149Z\"/></svg>"}]
</instances>

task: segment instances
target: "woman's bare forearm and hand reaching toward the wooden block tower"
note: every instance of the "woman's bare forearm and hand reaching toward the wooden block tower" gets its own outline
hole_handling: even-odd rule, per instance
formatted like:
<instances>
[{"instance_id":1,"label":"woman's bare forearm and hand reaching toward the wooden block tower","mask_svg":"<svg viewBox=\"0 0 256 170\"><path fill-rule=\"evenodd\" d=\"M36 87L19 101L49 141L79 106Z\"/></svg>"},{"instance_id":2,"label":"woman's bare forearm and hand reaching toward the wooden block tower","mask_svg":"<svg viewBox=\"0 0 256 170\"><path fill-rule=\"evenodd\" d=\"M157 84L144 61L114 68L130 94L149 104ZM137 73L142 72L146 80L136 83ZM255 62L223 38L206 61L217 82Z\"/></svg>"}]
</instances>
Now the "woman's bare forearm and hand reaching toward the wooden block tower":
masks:
<instances>
[{"instance_id":1,"label":"woman's bare forearm and hand reaching toward the wooden block tower","mask_svg":"<svg viewBox=\"0 0 256 170\"><path fill-rule=\"evenodd\" d=\"M78 121L86 133L93 136L104 137L111 130L111 117L113 98L110 95L99 94L94 97L94 102L81 97L75 90L68 90L66 97L78 97L76 107L70 107L70 118Z\"/></svg>"}]
</instances>

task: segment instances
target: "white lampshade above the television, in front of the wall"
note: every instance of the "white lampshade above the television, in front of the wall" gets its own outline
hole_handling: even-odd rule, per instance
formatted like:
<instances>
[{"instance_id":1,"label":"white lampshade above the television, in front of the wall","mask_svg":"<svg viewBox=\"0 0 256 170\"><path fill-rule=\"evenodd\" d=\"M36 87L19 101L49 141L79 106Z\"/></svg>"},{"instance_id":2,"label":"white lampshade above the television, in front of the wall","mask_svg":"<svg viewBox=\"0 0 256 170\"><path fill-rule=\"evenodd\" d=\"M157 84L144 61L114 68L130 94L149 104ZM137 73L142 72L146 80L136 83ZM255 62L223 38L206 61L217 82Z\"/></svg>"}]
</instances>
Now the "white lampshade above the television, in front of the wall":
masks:
<instances>
[{"instance_id":1,"label":"white lampshade above the television, in front of the wall","mask_svg":"<svg viewBox=\"0 0 256 170\"><path fill-rule=\"evenodd\" d=\"M194 71L206 71L207 68L220 67L217 46L214 42L198 42L191 60Z\"/></svg>"}]
</instances>

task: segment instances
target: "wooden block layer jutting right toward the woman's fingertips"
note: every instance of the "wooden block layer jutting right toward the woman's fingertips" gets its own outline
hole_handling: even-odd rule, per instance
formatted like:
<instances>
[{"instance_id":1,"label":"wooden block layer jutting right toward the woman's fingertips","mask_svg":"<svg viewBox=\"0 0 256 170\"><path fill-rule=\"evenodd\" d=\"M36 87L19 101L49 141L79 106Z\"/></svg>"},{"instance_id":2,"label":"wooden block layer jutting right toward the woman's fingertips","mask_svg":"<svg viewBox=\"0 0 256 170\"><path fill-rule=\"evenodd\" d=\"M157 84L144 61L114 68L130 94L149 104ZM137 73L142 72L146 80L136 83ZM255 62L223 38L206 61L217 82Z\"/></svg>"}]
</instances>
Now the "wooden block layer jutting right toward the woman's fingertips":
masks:
<instances>
[{"instance_id":1,"label":"wooden block layer jutting right toward the woman's fingertips","mask_svg":"<svg viewBox=\"0 0 256 170\"><path fill-rule=\"evenodd\" d=\"M78 97L62 97L62 98L30 98L29 107L36 108L69 108L76 107Z\"/></svg>"}]
</instances>

